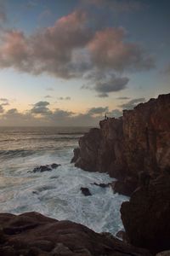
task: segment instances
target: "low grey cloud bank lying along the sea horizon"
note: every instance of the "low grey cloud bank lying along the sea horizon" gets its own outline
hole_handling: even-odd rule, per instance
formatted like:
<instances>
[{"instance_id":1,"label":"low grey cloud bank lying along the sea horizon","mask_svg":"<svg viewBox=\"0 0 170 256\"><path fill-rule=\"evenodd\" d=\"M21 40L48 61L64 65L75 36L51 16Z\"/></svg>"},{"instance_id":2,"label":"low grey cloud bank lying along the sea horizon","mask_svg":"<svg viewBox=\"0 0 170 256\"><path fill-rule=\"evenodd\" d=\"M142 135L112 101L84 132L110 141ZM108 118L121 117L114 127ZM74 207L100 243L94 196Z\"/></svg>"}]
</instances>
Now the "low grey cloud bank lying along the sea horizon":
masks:
<instances>
[{"instance_id":1,"label":"low grey cloud bank lying along the sea horizon","mask_svg":"<svg viewBox=\"0 0 170 256\"><path fill-rule=\"evenodd\" d=\"M50 111L48 102L37 102L33 106L31 110L26 110L24 113L20 113L16 108L5 112L0 106L1 125L94 126L99 125L99 120L104 119L105 113L110 117L121 115L119 110L109 111L108 107L89 108L86 113L73 113L60 108Z\"/></svg>"}]
</instances>

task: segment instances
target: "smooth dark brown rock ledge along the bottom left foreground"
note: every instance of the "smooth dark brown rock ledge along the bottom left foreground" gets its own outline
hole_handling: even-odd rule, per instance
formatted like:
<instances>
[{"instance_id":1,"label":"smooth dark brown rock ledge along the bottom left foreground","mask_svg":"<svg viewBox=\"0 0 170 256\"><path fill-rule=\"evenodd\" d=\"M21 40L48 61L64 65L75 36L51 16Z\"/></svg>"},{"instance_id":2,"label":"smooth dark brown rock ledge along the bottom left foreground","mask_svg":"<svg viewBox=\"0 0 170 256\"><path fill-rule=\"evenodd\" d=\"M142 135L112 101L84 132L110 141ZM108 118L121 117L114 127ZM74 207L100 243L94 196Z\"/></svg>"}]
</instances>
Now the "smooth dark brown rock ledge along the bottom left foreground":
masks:
<instances>
[{"instance_id":1,"label":"smooth dark brown rock ledge along the bottom left foreground","mask_svg":"<svg viewBox=\"0 0 170 256\"><path fill-rule=\"evenodd\" d=\"M2 256L150 256L114 237L100 235L71 221L57 221L37 212L0 214Z\"/></svg>"}]
</instances>

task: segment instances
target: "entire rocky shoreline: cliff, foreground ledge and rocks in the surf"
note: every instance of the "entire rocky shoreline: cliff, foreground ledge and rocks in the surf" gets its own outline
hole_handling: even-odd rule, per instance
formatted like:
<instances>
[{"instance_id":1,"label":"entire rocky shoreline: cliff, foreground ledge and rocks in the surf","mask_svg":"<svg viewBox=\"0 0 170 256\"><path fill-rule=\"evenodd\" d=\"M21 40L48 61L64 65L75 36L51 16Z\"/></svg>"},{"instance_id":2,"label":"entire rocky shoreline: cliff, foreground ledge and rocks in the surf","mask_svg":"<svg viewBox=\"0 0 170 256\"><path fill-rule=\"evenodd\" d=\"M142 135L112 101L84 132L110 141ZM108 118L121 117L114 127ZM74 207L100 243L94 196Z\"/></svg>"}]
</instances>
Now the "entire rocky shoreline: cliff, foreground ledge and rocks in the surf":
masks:
<instances>
[{"instance_id":1,"label":"entire rocky shoreline: cliff, foreground ledge and rocks in the surf","mask_svg":"<svg viewBox=\"0 0 170 256\"><path fill-rule=\"evenodd\" d=\"M131 196L121 207L126 241L37 212L0 213L0 255L170 255L159 253L170 249L170 94L99 125L80 139L72 162L85 171L108 172L116 182L94 185L111 185L115 192ZM52 168L40 166L35 172Z\"/></svg>"}]
</instances>

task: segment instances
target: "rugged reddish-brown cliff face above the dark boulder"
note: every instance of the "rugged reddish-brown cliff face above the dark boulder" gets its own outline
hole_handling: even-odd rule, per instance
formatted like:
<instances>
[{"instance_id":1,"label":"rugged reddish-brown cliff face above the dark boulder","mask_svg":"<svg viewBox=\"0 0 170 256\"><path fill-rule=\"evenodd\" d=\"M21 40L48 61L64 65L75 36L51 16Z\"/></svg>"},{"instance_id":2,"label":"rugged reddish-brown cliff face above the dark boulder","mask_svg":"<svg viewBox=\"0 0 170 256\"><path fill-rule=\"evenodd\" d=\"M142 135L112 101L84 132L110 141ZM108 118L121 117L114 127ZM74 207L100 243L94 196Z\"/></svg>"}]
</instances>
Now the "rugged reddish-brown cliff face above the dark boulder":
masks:
<instances>
[{"instance_id":1,"label":"rugged reddish-brown cliff face above the dark boulder","mask_svg":"<svg viewBox=\"0 0 170 256\"><path fill-rule=\"evenodd\" d=\"M141 172L156 177L170 168L170 94L125 110L120 119L105 119L79 141L75 166L108 172L119 180Z\"/></svg>"}]
</instances>

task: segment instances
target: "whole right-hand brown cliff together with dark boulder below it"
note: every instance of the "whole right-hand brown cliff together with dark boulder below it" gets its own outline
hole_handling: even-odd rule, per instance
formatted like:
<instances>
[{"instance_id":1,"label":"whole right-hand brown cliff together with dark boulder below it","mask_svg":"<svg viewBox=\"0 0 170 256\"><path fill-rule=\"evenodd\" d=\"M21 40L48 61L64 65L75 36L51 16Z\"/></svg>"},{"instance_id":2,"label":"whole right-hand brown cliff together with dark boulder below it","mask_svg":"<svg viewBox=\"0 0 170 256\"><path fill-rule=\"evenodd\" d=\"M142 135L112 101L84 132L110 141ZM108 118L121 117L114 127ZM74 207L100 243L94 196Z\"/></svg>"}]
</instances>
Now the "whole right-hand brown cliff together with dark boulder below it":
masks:
<instances>
[{"instance_id":1,"label":"whole right-hand brown cliff together with dark boulder below it","mask_svg":"<svg viewBox=\"0 0 170 256\"><path fill-rule=\"evenodd\" d=\"M127 240L150 253L170 249L170 94L100 121L80 138L72 162L90 172L107 172L122 203ZM167 255L170 255L170 253Z\"/></svg>"}]
</instances>

